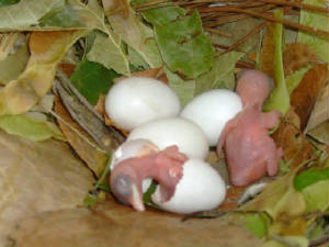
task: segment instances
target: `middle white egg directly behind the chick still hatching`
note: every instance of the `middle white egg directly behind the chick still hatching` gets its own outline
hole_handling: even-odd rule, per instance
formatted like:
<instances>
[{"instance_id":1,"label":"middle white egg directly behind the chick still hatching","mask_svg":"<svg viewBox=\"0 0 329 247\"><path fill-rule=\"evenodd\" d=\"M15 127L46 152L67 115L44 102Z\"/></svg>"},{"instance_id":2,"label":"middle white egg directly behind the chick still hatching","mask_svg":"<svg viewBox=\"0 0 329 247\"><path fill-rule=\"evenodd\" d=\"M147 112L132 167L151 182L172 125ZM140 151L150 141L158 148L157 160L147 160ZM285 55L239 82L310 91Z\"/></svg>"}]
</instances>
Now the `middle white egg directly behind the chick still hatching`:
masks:
<instances>
[{"instance_id":1,"label":"middle white egg directly behind the chick still hatching","mask_svg":"<svg viewBox=\"0 0 329 247\"><path fill-rule=\"evenodd\" d=\"M203 131L193 122L181 117L154 120L139 125L127 137L149 139L160 150L177 145L181 153L189 157L205 159L208 154L208 142Z\"/></svg>"}]
</instances>

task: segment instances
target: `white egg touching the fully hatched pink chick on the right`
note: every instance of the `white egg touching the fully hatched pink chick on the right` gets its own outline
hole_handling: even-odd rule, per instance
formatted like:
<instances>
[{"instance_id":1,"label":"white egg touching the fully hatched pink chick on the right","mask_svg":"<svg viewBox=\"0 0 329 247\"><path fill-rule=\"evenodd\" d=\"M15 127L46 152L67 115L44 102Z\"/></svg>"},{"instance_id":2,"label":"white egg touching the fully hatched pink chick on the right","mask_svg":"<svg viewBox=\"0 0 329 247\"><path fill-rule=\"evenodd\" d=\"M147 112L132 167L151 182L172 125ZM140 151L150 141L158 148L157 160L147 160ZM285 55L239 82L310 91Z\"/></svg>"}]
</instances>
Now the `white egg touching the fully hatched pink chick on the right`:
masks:
<instances>
[{"instance_id":1,"label":"white egg touching the fully hatched pink chick on the right","mask_svg":"<svg viewBox=\"0 0 329 247\"><path fill-rule=\"evenodd\" d=\"M227 89L214 89L195 97L181 116L196 123L207 136L211 146L218 142L225 124L242 110L240 97Z\"/></svg>"}]
</instances>

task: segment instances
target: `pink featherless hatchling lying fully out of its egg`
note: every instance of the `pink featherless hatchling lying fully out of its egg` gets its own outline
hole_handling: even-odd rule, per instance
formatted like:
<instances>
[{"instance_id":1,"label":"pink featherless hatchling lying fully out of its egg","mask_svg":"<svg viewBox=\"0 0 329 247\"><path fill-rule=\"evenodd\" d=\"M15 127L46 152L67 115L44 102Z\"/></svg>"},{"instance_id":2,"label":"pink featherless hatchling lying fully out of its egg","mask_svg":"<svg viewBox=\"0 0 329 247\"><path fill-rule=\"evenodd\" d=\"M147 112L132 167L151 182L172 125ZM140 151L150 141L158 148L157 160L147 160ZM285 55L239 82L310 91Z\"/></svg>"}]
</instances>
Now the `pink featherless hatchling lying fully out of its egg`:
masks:
<instances>
[{"instance_id":1,"label":"pink featherless hatchling lying fully out of its egg","mask_svg":"<svg viewBox=\"0 0 329 247\"><path fill-rule=\"evenodd\" d=\"M247 70L238 80L237 92L243 110L230 120L219 137L218 155L225 147L230 181L247 186L265 173L277 172L282 149L269 136L269 130L279 124L279 111L262 112L261 106L270 93L269 78L257 70Z\"/></svg>"}]
</instances>

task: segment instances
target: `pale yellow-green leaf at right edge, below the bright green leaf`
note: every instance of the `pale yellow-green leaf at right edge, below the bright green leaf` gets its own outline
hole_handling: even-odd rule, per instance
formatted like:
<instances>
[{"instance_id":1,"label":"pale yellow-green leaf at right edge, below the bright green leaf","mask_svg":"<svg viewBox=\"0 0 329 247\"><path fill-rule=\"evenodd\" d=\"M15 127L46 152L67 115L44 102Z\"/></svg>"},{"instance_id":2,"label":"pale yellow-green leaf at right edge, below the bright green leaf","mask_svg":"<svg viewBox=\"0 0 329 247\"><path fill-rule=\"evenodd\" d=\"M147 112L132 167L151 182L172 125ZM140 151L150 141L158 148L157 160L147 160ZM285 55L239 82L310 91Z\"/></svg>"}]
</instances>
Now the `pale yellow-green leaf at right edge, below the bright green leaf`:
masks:
<instances>
[{"instance_id":1,"label":"pale yellow-green leaf at right edge, below the bright green leaf","mask_svg":"<svg viewBox=\"0 0 329 247\"><path fill-rule=\"evenodd\" d=\"M327 170L328 173L328 170ZM313 183L302 191L306 201L307 212L326 211L329 207L329 180Z\"/></svg>"}]
</instances>

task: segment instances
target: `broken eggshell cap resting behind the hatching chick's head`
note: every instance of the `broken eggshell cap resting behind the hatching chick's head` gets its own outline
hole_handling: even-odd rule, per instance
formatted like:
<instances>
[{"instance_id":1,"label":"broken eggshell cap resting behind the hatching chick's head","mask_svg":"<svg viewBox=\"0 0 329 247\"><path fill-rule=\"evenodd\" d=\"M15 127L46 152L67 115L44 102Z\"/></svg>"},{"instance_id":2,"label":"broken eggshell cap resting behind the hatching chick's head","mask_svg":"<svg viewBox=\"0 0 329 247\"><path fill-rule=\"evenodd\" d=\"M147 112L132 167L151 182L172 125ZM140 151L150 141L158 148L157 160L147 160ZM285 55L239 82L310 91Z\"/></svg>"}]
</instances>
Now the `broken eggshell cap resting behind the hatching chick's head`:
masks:
<instances>
[{"instance_id":1,"label":"broken eggshell cap resting behind the hatching chick's head","mask_svg":"<svg viewBox=\"0 0 329 247\"><path fill-rule=\"evenodd\" d=\"M159 148L148 139L133 139L124 142L112 156L110 169L128 158L138 158L148 154L157 153ZM146 192L150 187L152 179L145 179L143 181L143 192Z\"/></svg>"}]
</instances>

